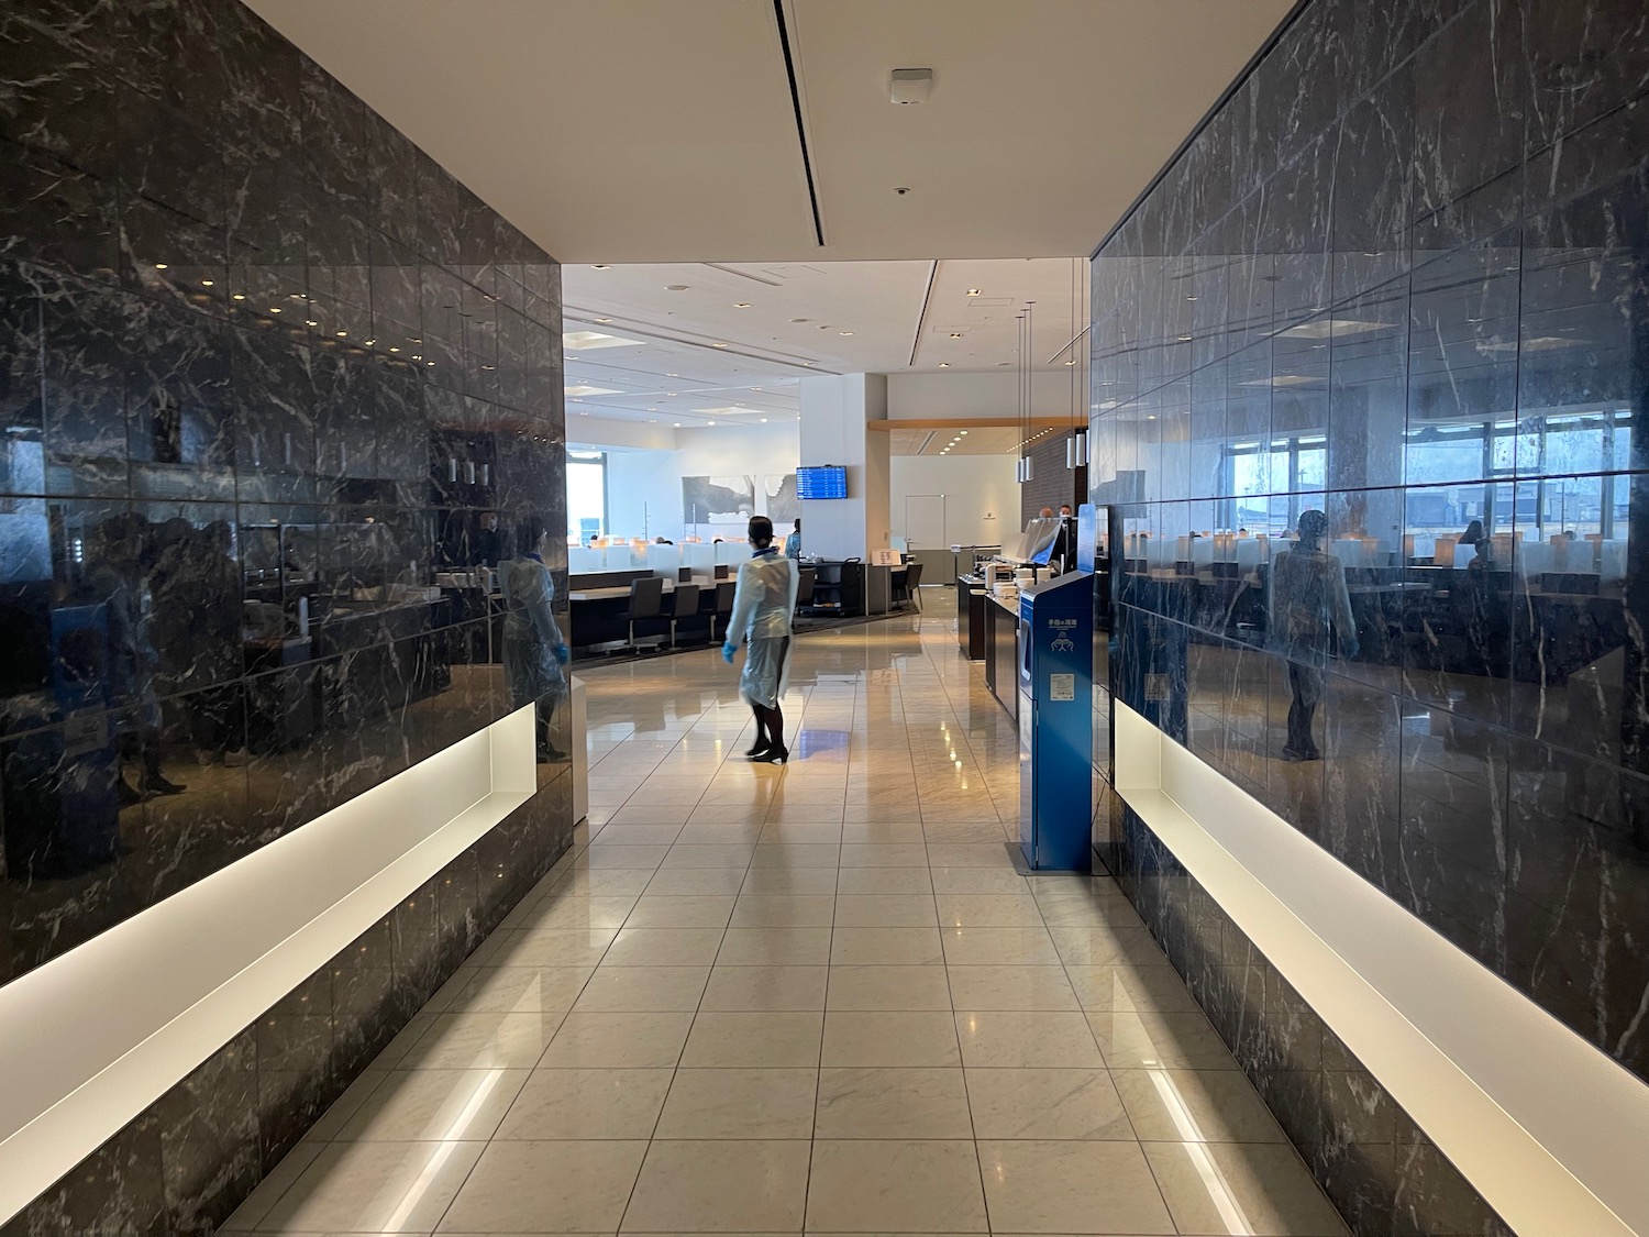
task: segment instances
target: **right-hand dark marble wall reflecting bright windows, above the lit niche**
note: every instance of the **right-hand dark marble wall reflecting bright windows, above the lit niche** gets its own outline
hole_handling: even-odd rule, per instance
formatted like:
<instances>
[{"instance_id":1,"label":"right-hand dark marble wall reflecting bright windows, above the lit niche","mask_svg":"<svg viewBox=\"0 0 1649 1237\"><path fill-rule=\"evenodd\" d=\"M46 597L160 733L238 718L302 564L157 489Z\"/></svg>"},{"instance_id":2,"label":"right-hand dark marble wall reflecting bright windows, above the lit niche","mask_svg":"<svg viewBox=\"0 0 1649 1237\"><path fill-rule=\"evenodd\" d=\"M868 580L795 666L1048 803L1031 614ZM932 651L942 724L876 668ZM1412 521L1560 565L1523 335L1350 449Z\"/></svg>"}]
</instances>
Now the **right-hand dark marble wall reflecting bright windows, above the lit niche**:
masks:
<instances>
[{"instance_id":1,"label":"right-hand dark marble wall reflecting bright windows, above the lit niche","mask_svg":"<svg viewBox=\"0 0 1649 1237\"><path fill-rule=\"evenodd\" d=\"M1115 691L1649 1077L1649 10L1311 0L1093 320Z\"/></svg>"}]
</instances>

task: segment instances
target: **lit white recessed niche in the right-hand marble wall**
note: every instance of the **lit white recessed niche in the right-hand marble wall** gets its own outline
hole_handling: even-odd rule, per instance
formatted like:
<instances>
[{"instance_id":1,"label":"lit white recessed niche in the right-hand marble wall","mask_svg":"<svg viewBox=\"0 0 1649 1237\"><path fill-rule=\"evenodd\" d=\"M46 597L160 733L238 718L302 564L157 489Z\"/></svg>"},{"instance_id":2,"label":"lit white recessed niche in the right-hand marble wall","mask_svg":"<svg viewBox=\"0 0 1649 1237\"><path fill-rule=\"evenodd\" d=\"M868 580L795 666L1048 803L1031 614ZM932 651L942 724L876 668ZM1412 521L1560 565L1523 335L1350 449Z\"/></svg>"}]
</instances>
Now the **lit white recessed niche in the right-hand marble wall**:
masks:
<instances>
[{"instance_id":1,"label":"lit white recessed niche in the right-hand marble wall","mask_svg":"<svg viewBox=\"0 0 1649 1237\"><path fill-rule=\"evenodd\" d=\"M1649 1087L1120 701L1116 790L1519 1234L1649 1234Z\"/></svg>"}]
</instances>

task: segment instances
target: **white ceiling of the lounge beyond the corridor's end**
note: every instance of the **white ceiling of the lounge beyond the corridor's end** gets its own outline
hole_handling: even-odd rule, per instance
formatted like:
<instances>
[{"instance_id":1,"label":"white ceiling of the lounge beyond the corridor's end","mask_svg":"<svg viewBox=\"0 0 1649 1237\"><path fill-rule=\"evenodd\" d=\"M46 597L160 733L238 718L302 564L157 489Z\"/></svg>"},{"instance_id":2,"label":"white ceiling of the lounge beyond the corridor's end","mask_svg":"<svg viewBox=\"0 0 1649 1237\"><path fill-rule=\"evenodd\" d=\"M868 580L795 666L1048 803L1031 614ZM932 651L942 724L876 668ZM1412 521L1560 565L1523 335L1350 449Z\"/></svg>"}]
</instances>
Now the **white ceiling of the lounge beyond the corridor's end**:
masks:
<instances>
[{"instance_id":1,"label":"white ceiling of the lounge beyond the corridor's end","mask_svg":"<svg viewBox=\"0 0 1649 1237\"><path fill-rule=\"evenodd\" d=\"M806 374L1012 371L1027 302L1034 366L1065 371L1087 360L1069 346L1085 280L1069 257L569 266L569 421L795 421ZM579 348L582 332L633 343Z\"/></svg>"}]
</instances>

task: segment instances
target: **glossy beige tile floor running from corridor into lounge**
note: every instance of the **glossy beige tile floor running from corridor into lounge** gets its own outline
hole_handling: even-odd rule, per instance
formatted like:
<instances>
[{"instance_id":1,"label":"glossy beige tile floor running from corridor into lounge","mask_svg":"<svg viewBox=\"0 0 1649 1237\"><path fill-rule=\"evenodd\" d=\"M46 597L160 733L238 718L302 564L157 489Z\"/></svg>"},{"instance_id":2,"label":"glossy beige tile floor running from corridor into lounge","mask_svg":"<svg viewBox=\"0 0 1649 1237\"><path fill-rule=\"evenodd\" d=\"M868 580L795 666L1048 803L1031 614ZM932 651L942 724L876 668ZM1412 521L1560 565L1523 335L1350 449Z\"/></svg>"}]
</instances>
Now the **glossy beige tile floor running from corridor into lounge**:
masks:
<instances>
[{"instance_id":1,"label":"glossy beige tile floor running from corridor into lounge","mask_svg":"<svg viewBox=\"0 0 1649 1237\"><path fill-rule=\"evenodd\" d=\"M1014 871L951 623L798 642L783 769L714 651L587 678L579 844L228 1230L1344 1234L1116 887Z\"/></svg>"}]
</instances>

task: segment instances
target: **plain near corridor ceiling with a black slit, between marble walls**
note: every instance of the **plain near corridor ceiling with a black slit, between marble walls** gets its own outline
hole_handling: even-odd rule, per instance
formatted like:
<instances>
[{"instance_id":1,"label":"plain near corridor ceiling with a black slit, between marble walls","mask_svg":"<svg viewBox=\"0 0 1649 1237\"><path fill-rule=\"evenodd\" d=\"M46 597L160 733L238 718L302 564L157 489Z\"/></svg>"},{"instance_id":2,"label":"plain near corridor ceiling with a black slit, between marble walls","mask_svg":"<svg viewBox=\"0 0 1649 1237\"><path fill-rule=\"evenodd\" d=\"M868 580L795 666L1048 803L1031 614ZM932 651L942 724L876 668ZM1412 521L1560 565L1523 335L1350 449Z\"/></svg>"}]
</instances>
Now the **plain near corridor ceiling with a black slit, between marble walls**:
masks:
<instances>
[{"instance_id":1,"label":"plain near corridor ceiling with a black slit, between marble walls","mask_svg":"<svg viewBox=\"0 0 1649 1237\"><path fill-rule=\"evenodd\" d=\"M821 249L772 0L249 3L569 264L1087 254L1291 7L782 0Z\"/></svg>"}]
</instances>

